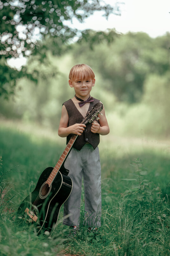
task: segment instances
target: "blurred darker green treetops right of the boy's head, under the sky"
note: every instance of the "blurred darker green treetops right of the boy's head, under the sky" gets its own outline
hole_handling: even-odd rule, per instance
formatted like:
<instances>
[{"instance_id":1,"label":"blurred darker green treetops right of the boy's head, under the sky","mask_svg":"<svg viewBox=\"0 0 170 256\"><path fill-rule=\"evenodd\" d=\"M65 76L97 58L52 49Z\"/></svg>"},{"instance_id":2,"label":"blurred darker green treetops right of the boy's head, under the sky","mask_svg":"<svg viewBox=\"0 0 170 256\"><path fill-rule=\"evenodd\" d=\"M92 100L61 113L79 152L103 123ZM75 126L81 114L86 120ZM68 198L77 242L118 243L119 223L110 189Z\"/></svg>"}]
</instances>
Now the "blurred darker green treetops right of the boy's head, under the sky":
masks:
<instances>
[{"instance_id":1,"label":"blurred darker green treetops right of the boy's head, under the sky","mask_svg":"<svg viewBox=\"0 0 170 256\"><path fill-rule=\"evenodd\" d=\"M87 43L75 45L73 56L77 62L89 63L119 101L140 102L147 75L169 71L169 34L154 39L145 33L128 33L113 39L93 50Z\"/></svg>"}]
</instances>

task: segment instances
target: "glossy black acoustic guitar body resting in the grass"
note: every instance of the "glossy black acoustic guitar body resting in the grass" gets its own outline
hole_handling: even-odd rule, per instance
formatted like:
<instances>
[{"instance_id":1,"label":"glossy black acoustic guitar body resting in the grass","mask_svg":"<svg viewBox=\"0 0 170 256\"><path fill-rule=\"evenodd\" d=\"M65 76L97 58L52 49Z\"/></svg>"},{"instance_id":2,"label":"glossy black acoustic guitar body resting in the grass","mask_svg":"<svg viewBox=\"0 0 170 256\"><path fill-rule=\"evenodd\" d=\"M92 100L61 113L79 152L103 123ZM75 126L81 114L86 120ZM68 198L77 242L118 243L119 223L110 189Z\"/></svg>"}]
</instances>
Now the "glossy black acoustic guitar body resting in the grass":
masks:
<instances>
[{"instance_id":1,"label":"glossy black acoustic guitar body resting in the grass","mask_svg":"<svg viewBox=\"0 0 170 256\"><path fill-rule=\"evenodd\" d=\"M46 168L39 177L35 190L27 196L17 210L17 221L34 222L37 233L53 232L61 206L69 197L72 190L72 180L65 175L64 167L58 171L52 184L46 183L53 167ZM67 174L67 170L65 170ZM27 209L27 210L26 210ZM26 212L25 212L26 211Z\"/></svg>"}]
</instances>

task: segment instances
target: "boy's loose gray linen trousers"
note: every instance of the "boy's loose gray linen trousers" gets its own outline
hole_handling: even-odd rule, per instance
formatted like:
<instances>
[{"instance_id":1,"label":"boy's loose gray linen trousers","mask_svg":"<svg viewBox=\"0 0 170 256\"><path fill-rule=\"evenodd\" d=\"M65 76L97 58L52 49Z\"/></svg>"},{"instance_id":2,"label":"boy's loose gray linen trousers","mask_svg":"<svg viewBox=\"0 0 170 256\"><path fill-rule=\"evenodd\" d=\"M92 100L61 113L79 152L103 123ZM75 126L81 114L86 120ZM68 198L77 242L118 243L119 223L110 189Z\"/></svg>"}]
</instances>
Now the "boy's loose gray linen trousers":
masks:
<instances>
[{"instance_id":1,"label":"boy's loose gray linen trousers","mask_svg":"<svg viewBox=\"0 0 170 256\"><path fill-rule=\"evenodd\" d=\"M93 149L91 144L85 144L79 151L72 148L65 168L73 182L71 194L64 204L63 224L79 226L82 177L85 191L85 209L83 225L99 227L101 217L101 166L99 148ZM66 216L68 215L69 216ZM66 216L66 217L65 217Z\"/></svg>"}]
</instances>

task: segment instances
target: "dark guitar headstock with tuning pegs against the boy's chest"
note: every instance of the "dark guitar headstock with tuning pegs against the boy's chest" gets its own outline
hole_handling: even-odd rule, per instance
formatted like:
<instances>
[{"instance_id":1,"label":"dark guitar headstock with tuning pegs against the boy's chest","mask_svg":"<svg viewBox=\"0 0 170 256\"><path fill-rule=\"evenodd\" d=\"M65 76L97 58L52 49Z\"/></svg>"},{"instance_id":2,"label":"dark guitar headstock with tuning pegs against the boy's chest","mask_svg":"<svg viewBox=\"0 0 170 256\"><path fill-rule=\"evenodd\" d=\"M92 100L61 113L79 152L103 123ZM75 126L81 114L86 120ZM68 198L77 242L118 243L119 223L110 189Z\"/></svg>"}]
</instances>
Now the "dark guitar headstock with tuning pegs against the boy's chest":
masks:
<instances>
[{"instance_id":1,"label":"dark guitar headstock with tuning pegs against the boy's chest","mask_svg":"<svg viewBox=\"0 0 170 256\"><path fill-rule=\"evenodd\" d=\"M103 109L103 104L101 102L95 104L92 107L91 111L87 112L87 114L85 115L85 118L81 123L83 124L91 123L95 118L99 120L98 114L102 111L102 109Z\"/></svg>"}]
</instances>

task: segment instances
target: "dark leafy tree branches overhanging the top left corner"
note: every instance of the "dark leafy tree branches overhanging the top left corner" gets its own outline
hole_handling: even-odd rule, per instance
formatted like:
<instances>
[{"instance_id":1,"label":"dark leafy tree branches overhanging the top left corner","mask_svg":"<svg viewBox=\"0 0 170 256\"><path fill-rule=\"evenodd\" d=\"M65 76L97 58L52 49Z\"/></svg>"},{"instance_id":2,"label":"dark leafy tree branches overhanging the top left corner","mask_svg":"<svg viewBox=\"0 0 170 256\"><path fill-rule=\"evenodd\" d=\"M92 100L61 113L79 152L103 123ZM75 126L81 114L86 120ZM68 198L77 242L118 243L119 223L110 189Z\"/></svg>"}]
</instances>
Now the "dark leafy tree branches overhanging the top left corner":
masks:
<instances>
[{"instance_id":1,"label":"dark leafy tree branches overhanging the top left corner","mask_svg":"<svg viewBox=\"0 0 170 256\"><path fill-rule=\"evenodd\" d=\"M100 0L1 0L0 95L13 93L16 79L24 74L37 81L25 67L21 71L11 70L7 65L9 58L32 55L42 62L47 61L49 49L53 55L62 54L69 46L69 40L78 35L78 30L66 26L64 21L74 17L83 22L95 11L104 11L107 17L112 12L118 14L119 7L113 8ZM81 32L80 36L83 34L87 31Z\"/></svg>"}]
</instances>

